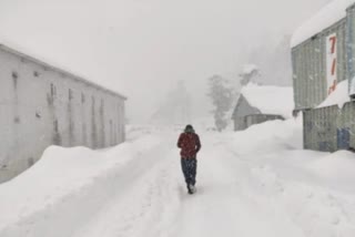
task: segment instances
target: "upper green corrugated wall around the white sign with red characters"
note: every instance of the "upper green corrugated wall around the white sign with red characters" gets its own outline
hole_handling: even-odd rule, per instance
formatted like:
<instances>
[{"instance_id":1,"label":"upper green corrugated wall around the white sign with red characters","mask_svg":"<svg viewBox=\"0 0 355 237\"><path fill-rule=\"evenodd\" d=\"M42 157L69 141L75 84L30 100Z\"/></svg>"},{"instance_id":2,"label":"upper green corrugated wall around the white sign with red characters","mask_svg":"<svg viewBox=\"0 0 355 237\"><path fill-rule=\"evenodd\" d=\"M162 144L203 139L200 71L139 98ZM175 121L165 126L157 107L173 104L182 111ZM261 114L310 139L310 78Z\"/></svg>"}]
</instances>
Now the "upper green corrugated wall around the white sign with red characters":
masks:
<instances>
[{"instance_id":1,"label":"upper green corrugated wall around the white sign with red characters","mask_svg":"<svg viewBox=\"0 0 355 237\"><path fill-rule=\"evenodd\" d=\"M326 37L337 34L337 81L347 76L346 20L337 22L312 39L293 48L293 85L295 110L315 107L327 96Z\"/></svg>"}]
</instances>

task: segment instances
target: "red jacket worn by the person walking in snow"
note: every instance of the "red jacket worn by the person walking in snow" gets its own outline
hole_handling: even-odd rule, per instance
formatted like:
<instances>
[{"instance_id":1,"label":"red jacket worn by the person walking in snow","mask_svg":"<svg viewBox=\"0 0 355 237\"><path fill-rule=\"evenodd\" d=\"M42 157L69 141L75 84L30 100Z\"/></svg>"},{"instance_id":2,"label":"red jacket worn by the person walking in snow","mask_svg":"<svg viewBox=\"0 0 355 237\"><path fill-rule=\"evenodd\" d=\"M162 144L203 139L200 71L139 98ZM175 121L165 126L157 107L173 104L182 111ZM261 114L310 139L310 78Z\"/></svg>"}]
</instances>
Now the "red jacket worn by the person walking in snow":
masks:
<instances>
[{"instance_id":1,"label":"red jacket worn by the person walking in snow","mask_svg":"<svg viewBox=\"0 0 355 237\"><path fill-rule=\"evenodd\" d=\"M201 150L199 135L195 133L182 133L178 141L178 147L181 148L182 158L195 158Z\"/></svg>"}]
</instances>

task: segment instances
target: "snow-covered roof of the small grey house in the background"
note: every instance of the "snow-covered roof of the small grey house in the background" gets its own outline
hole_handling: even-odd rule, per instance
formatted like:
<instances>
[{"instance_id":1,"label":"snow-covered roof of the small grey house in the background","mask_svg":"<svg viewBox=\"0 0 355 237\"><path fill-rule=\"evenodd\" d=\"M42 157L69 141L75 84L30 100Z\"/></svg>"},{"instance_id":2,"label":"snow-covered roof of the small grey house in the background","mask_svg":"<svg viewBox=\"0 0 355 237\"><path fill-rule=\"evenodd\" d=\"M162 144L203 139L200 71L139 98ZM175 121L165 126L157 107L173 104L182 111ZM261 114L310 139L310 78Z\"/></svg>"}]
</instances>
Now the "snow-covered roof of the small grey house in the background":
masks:
<instances>
[{"instance_id":1,"label":"snow-covered roof of the small grey house in the background","mask_svg":"<svg viewBox=\"0 0 355 237\"><path fill-rule=\"evenodd\" d=\"M277 114L285 118L292 117L294 109L293 89L248 83L242 89L247 102L263 114Z\"/></svg>"}]
</instances>

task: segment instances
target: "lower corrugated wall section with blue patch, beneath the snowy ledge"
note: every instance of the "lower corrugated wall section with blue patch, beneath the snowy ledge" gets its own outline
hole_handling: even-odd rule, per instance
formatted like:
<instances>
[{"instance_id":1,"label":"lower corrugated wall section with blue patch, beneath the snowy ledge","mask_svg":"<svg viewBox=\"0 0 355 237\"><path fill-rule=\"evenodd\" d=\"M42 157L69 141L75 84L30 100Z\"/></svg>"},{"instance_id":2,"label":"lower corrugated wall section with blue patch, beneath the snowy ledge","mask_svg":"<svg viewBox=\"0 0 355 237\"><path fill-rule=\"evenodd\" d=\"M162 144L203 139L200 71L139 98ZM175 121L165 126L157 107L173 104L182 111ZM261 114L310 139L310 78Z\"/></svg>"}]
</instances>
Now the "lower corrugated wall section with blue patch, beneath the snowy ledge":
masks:
<instances>
[{"instance_id":1,"label":"lower corrugated wall section with blue patch, beneath the snowy ledge","mask_svg":"<svg viewBox=\"0 0 355 237\"><path fill-rule=\"evenodd\" d=\"M304 148L335 152L355 148L355 102L304 112Z\"/></svg>"}]
</instances>

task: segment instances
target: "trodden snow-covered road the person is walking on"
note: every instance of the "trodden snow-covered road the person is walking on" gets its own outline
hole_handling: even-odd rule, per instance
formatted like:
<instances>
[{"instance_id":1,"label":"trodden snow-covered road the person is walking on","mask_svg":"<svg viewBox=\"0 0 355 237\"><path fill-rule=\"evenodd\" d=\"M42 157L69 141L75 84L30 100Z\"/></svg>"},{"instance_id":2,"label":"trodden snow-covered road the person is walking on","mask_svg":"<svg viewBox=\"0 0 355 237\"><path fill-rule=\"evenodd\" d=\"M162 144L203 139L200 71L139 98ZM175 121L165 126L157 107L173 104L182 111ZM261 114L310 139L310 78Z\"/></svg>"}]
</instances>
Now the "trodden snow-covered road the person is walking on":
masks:
<instances>
[{"instance_id":1,"label":"trodden snow-covered road the person is walking on","mask_svg":"<svg viewBox=\"0 0 355 237\"><path fill-rule=\"evenodd\" d=\"M285 216L273 217L275 206L250 198L253 165L227 152L225 143L219 145L221 137L212 134L200 154L199 193L187 195L175 138L162 140L143 163L125 169L130 183L118 185L121 192L74 236L302 236Z\"/></svg>"}]
</instances>

